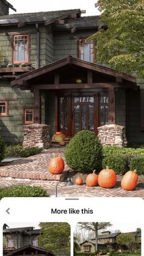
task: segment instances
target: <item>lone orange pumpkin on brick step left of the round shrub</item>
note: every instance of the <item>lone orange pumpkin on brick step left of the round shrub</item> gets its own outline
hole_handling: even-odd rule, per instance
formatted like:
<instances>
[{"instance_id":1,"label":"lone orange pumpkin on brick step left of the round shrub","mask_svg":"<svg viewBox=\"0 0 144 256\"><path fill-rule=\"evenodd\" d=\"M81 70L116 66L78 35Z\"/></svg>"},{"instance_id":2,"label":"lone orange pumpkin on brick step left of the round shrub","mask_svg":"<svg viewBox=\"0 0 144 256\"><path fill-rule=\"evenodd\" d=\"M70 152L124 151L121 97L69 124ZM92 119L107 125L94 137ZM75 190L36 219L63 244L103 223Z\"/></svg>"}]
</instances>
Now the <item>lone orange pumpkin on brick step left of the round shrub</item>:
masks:
<instances>
[{"instance_id":1,"label":"lone orange pumpkin on brick step left of the round shrub","mask_svg":"<svg viewBox=\"0 0 144 256\"><path fill-rule=\"evenodd\" d=\"M49 161L49 173L50 174L61 174L63 172L63 169L65 167L63 158L60 156L57 156L56 158L51 158Z\"/></svg>"}]
</instances>

